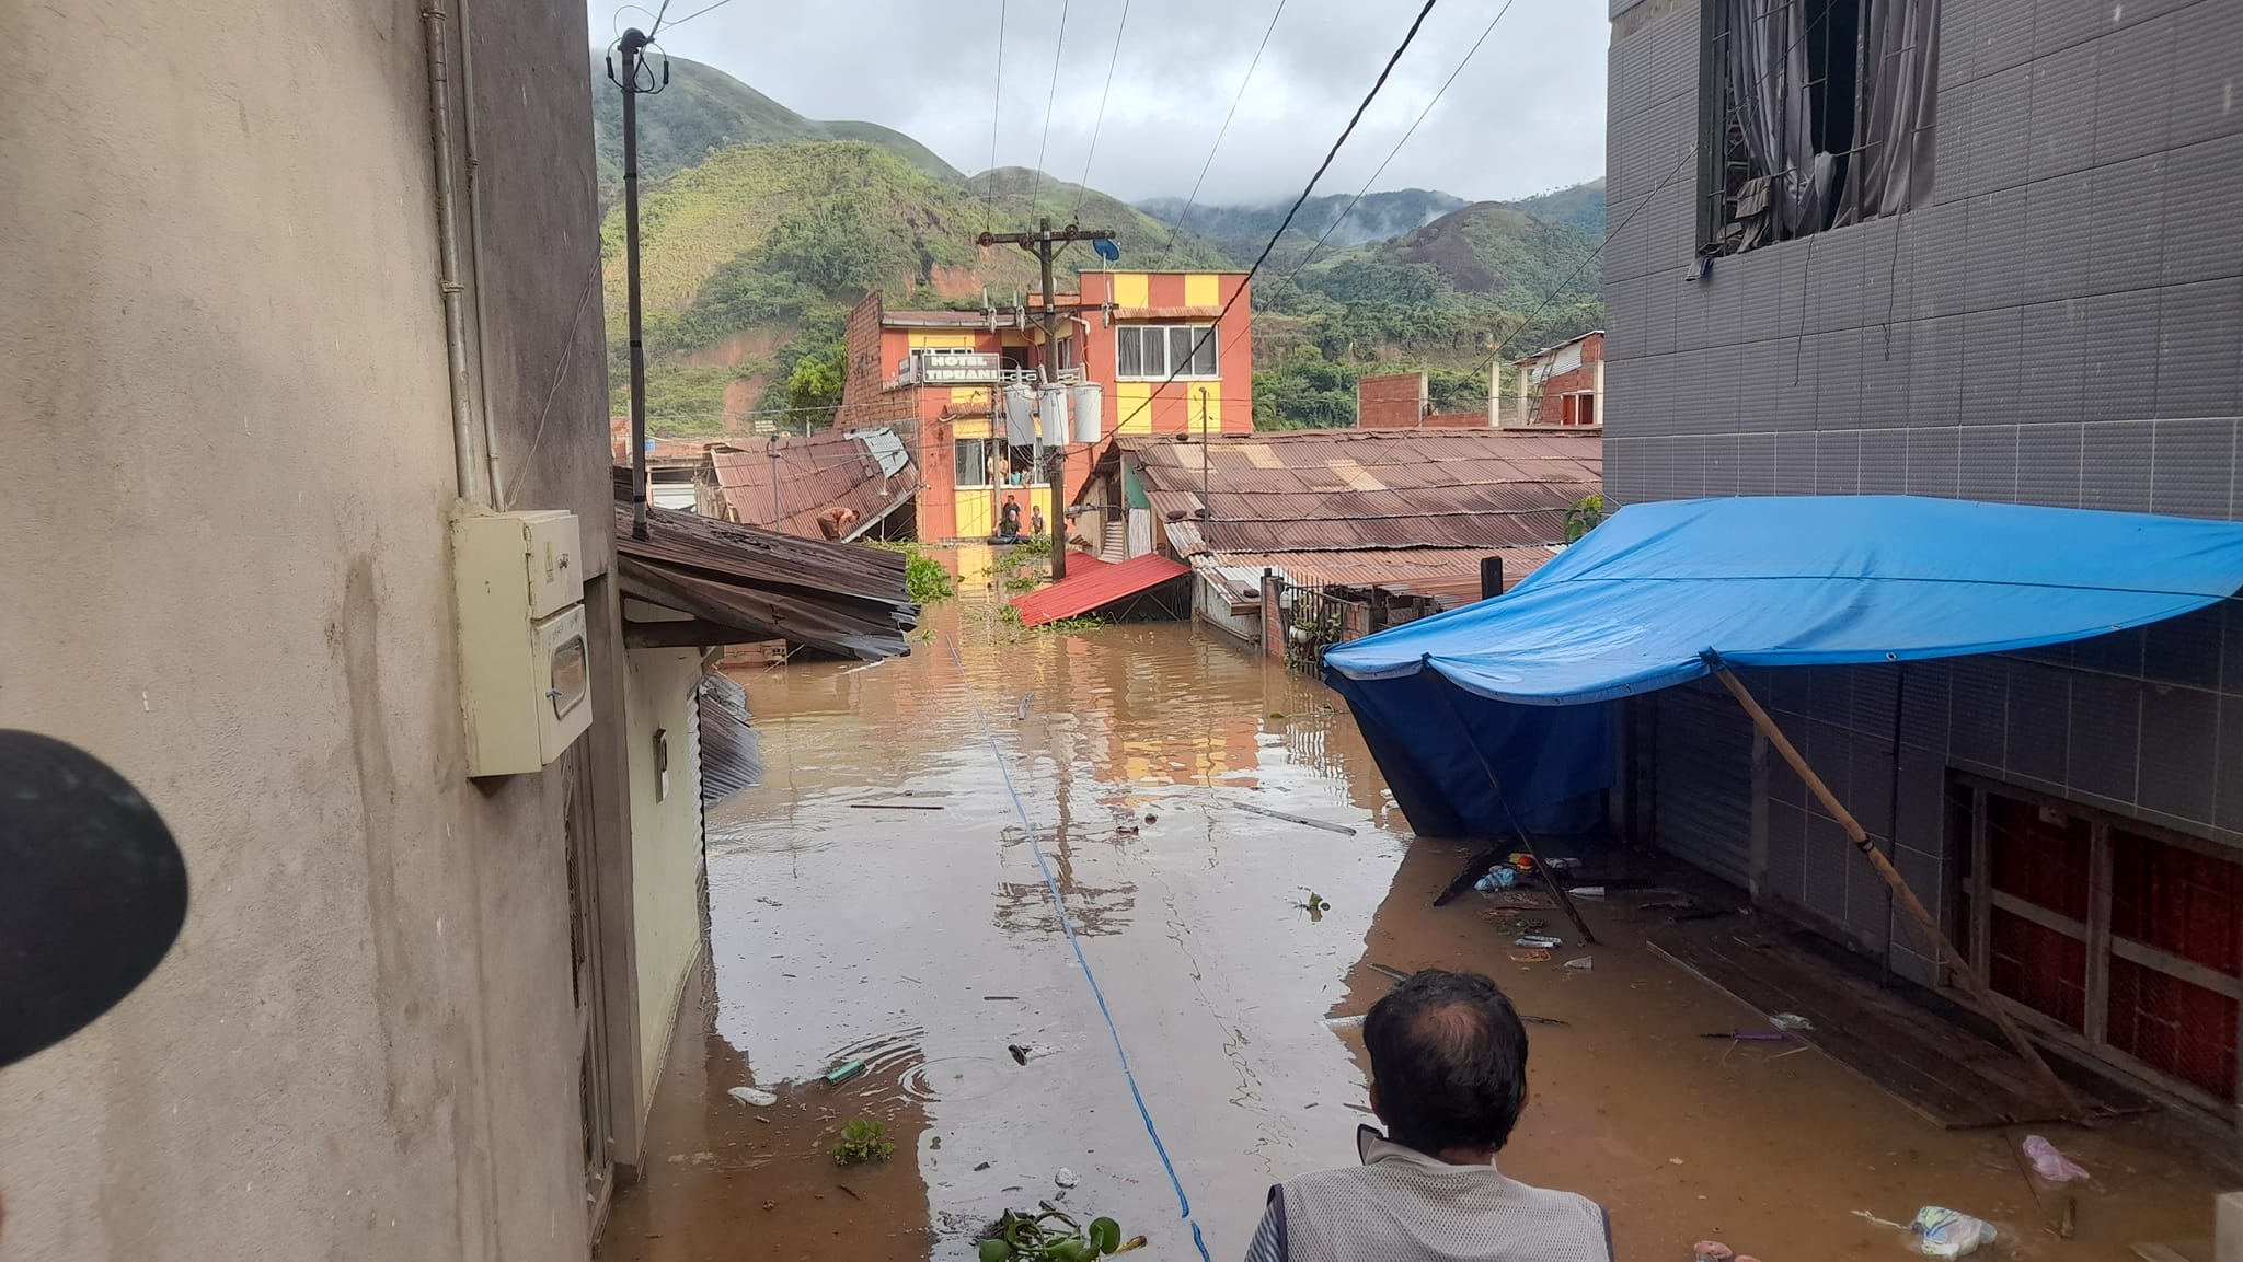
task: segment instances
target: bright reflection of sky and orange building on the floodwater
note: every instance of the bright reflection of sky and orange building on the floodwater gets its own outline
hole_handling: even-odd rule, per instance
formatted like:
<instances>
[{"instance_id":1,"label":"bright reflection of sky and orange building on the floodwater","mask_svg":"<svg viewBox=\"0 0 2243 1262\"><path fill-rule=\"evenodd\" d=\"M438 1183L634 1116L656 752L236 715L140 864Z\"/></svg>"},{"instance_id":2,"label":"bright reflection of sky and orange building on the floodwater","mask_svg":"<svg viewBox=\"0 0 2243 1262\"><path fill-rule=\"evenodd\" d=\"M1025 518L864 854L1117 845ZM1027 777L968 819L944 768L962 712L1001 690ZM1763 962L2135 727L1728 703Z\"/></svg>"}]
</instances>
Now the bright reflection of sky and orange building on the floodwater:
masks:
<instances>
[{"instance_id":1,"label":"bright reflection of sky and orange building on the floodwater","mask_svg":"<svg viewBox=\"0 0 2243 1262\"><path fill-rule=\"evenodd\" d=\"M716 1027L765 1083L864 1060L886 1087L848 1107L924 1107L938 1222L1052 1197L1065 1166L1068 1204L1160 1242L1175 1197L994 735L1196 1217L1238 1253L1362 1098L1321 1020L1400 859L1368 755L1319 684L1182 623L1034 634L969 596L926 625L904 661L742 675L769 776L709 816Z\"/></svg>"}]
</instances>

